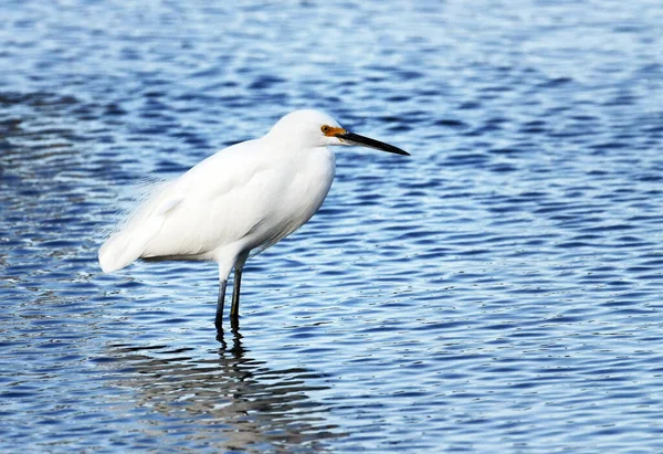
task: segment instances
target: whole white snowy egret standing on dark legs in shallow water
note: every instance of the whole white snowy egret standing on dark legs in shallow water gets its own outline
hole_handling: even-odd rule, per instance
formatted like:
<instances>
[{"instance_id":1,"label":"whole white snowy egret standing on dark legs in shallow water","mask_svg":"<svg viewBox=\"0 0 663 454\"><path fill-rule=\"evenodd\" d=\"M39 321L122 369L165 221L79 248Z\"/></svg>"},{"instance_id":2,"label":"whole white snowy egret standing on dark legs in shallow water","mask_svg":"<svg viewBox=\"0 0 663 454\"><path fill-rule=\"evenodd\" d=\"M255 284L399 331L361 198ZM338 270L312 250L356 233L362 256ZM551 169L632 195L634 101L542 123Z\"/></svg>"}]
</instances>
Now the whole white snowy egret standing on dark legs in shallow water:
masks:
<instances>
[{"instance_id":1,"label":"whole white snowy egret standing on dark legs in shallow water","mask_svg":"<svg viewBox=\"0 0 663 454\"><path fill-rule=\"evenodd\" d=\"M215 325L234 267L230 318L238 326L246 260L293 233L322 205L335 175L333 145L397 155L394 146L352 134L317 110L281 118L262 138L230 146L159 187L99 250L105 273L131 262L213 261L219 265Z\"/></svg>"}]
</instances>

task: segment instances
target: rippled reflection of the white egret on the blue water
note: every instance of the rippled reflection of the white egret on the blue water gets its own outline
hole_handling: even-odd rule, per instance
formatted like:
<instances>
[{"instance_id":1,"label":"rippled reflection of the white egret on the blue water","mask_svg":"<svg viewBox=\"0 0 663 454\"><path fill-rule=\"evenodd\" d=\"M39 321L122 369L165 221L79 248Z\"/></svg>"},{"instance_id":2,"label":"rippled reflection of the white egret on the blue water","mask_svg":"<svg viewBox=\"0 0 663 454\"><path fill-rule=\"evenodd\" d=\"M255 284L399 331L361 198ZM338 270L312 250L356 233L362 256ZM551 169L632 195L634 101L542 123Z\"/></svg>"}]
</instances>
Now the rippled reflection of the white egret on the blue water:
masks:
<instances>
[{"instance_id":1,"label":"rippled reflection of the white egret on the blue water","mask_svg":"<svg viewBox=\"0 0 663 454\"><path fill-rule=\"evenodd\" d=\"M137 392L137 407L160 414L150 433L157 430L167 440L180 423L208 446L248 452L324 452L328 439L343 435L327 423L328 409L307 395L328 388L307 384L320 376L267 368L248 355L239 329L220 330L217 339L218 351L198 357L193 348L110 347L129 372L118 384ZM167 422L160 424L162 416Z\"/></svg>"}]
</instances>

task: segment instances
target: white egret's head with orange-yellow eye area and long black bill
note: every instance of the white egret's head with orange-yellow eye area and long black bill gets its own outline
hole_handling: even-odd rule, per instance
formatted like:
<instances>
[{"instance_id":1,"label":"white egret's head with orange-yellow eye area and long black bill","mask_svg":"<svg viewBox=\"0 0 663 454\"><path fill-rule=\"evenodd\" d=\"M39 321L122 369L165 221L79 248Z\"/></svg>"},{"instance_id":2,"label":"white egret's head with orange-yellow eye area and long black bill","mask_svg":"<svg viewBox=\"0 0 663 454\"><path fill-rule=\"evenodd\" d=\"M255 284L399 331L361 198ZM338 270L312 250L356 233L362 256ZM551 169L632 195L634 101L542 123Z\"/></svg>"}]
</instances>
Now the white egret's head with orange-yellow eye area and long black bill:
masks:
<instances>
[{"instance_id":1,"label":"white egret's head with orange-yellow eye area and long black bill","mask_svg":"<svg viewBox=\"0 0 663 454\"><path fill-rule=\"evenodd\" d=\"M410 154L389 144L343 128L338 122L319 110L295 110L281 118L267 137L288 147L315 148L335 145L375 148L397 155Z\"/></svg>"}]
</instances>

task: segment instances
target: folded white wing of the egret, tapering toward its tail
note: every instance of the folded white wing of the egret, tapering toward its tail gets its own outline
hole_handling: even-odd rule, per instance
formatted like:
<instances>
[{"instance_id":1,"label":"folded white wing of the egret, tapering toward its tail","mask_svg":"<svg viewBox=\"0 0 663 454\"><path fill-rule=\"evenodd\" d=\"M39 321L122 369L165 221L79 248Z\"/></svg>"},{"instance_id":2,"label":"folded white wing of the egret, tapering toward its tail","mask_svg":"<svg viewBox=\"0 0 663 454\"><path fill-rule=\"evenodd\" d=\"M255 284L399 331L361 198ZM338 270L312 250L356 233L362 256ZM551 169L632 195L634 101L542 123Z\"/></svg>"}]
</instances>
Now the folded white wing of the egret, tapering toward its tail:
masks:
<instances>
[{"instance_id":1,"label":"folded white wing of the egret, tapering toward its tail","mask_svg":"<svg viewBox=\"0 0 663 454\"><path fill-rule=\"evenodd\" d=\"M139 257L197 256L241 239L261 222L260 210L248 208L264 194L255 178L263 171L269 161L254 140L212 155L159 188L106 241L102 270L120 270Z\"/></svg>"}]
</instances>

